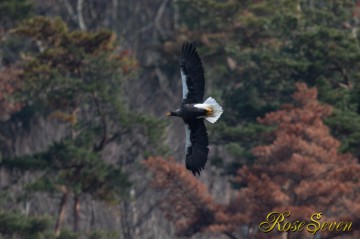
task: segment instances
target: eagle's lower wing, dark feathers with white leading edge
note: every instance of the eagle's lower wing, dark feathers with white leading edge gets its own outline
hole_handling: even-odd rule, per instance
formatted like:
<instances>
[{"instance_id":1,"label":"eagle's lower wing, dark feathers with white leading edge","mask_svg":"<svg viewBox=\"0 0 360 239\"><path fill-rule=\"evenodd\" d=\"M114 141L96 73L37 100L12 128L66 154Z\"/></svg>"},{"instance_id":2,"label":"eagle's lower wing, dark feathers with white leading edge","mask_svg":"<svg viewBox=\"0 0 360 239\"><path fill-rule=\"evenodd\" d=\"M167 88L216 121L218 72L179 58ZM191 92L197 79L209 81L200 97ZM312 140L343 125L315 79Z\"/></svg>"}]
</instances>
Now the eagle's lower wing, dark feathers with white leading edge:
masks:
<instances>
[{"instance_id":1,"label":"eagle's lower wing, dark feathers with white leading edge","mask_svg":"<svg viewBox=\"0 0 360 239\"><path fill-rule=\"evenodd\" d=\"M208 135L203 119L184 120L185 133L186 133L186 168L190 170L194 175L204 169L208 149Z\"/></svg>"}]
</instances>

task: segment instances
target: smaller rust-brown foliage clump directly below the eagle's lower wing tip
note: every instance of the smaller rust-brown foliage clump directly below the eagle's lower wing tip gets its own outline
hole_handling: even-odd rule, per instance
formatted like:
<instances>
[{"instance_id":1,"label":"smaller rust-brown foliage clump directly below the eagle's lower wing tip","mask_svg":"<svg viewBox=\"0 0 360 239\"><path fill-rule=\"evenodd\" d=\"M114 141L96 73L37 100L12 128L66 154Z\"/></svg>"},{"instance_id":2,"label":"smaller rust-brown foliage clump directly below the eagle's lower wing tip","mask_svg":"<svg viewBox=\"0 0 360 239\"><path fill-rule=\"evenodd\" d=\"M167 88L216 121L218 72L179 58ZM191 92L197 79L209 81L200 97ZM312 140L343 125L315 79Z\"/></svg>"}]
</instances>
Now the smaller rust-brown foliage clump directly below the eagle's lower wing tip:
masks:
<instances>
[{"instance_id":1,"label":"smaller rust-brown foliage clump directly below the eagle's lower wing tip","mask_svg":"<svg viewBox=\"0 0 360 239\"><path fill-rule=\"evenodd\" d=\"M166 190L162 209L175 224L177 235L229 230L232 218L225 211L226 207L215 203L207 187L184 165L161 157L150 157L144 164L154 173L152 186Z\"/></svg>"}]
</instances>

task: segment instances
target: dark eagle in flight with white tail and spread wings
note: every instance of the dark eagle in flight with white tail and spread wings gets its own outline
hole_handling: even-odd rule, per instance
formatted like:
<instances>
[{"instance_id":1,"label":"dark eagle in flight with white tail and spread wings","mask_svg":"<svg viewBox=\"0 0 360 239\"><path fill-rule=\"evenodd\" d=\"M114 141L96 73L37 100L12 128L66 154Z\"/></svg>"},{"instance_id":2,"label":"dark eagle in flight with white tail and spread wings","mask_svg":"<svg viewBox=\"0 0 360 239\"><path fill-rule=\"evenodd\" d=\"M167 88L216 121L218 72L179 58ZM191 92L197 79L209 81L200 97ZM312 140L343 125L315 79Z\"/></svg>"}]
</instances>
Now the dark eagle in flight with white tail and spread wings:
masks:
<instances>
[{"instance_id":1,"label":"dark eagle in flight with white tail and spread wings","mask_svg":"<svg viewBox=\"0 0 360 239\"><path fill-rule=\"evenodd\" d=\"M166 115L180 117L185 123L185 164L194 175L196 173L200 175L209 153L204 119L215 123L223 112L221 106L212 97L203 103L204 73L195 47L189 43L183 44L180 57L183 100L179 109L167 112Z\"/></svg>"}]
</instances>

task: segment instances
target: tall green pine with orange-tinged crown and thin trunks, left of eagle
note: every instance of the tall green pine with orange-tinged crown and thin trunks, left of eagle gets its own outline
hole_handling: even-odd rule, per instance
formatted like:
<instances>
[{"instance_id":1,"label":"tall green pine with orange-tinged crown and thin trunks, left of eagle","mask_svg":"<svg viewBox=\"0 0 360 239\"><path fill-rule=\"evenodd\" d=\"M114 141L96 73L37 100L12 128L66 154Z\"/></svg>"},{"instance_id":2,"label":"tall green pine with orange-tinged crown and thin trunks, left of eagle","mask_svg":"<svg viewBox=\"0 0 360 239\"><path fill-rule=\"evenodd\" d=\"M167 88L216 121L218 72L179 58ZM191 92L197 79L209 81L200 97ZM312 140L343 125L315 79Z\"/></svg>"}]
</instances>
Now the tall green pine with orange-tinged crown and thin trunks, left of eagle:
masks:
<instances>
[{"instance_id":1,"label":"tall green pine with orange-tinged crown and thin trunks, left of eagle","mask_svg":"<svg viewBox=\"0 0 360 239\"><path fill-rule=\"evenodd\" d=\"M1 165L41 175L29 182L28 191L62 194L57 236L72 197L73 231L79 232L84 195L117 202L130 186L120 165L104 162L103 150L121 137L130 137L133 130L149 137L150 148L162 126L127 109L122 86L137 64L128 51L119 50L111 31L71 32L60 19L36 17L12 32L31 40L33 51L26 53L20 74L17 99L22 109L10 121L25 125L34 117L44 117L57 122L65 135L59 142L49 142L44 152L5 157Z\"/></svg>"}]
</instances>

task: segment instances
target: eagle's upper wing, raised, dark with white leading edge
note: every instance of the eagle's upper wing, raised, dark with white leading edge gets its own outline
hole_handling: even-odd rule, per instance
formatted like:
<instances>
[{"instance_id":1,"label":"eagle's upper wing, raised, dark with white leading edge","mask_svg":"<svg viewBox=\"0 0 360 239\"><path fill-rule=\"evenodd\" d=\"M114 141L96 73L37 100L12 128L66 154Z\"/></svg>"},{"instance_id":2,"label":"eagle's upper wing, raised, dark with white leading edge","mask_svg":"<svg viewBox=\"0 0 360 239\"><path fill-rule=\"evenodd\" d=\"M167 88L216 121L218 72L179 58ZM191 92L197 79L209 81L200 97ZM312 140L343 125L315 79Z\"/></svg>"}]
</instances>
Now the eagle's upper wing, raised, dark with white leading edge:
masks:
<instances>
[{"instance_id":1,"label":"eagle's upper wing, raised, dark with white leading edge","mask_svg":"<svg viewBox=\"0 0 360 239\"><path fill-rule=\"evenodd\" d=\"M202 103L204 98L204 68L199 54L192 44L182 46L180 73L183 86L183 103Z\"/></svg>"}]
</instances>

